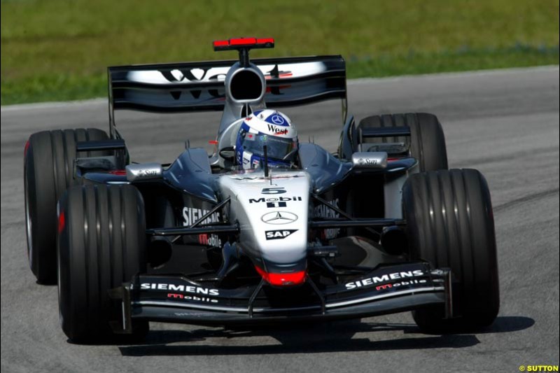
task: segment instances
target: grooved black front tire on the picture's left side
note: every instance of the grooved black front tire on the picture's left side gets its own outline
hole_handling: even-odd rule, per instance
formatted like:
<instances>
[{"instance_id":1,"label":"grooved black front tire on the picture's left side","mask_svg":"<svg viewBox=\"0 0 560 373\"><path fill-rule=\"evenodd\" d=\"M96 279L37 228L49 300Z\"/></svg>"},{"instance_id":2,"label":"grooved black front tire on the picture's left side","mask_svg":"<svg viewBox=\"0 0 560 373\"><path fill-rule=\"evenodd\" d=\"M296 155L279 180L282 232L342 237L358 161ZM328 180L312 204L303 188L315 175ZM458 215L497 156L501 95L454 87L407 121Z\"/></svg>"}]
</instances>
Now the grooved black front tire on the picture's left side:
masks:
<instances>
[{"instance_id":1,"label":"grooved black front tire on the picture's left side","mask_svg":"<svg viewBox=\"0 0 560 373\"><path fill-rule=\"evenodd\" d=\"M109 290L146 272L144 200L132 185L76 185L59 203L58 292L62 330L72 342L115 342L122 320ZM147 321L133 321L137 340Z\"/></svg>"}]
</instances>

